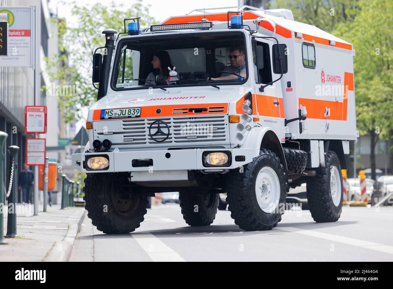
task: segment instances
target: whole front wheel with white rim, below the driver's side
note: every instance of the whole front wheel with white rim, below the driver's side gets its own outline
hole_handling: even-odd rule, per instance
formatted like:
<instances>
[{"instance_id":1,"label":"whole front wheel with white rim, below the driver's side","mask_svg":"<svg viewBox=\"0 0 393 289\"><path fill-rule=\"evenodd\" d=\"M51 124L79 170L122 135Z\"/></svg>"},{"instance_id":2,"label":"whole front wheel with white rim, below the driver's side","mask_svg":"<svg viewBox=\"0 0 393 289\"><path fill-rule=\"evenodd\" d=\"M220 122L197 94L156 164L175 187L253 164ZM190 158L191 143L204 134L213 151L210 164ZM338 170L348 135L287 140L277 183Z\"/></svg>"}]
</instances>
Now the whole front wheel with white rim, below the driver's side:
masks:
<instances>
[{"instance_id":1,"label":"whole front wheel with white rim, below the driver's side","mask_svg":"<svg viewBox=\"0 0 393 289\"><path fill-rule=\"evenodd\" d=\"M261 149L244 172L231 170L226 178L228 210L243 230L271 230L285 212L284 168L274 152Z\"/></svg>"}]
</instances>

